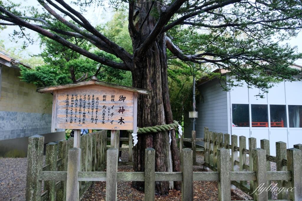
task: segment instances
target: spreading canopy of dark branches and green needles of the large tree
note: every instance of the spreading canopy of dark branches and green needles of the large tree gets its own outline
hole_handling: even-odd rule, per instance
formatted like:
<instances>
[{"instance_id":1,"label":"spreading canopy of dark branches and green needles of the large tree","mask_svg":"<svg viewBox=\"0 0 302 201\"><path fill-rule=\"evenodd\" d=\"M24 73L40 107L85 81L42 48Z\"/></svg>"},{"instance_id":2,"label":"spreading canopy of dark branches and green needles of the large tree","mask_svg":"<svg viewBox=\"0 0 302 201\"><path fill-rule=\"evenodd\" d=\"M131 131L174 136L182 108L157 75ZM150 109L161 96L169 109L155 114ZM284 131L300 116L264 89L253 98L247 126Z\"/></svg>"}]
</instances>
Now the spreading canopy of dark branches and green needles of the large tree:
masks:
<instances>
[{"instance_id":1,"label":"spreading canopy of dark branches and green needles of the large tree","mask_svg":"<svg viewBox=\"0 0 302 201\"><path fill-rule=\"evenodd\" d=\"M47 51L70 49L73 56L79 59L79 68L76 68L81 69L78 72L81 76L89 65L84 68L81 62L88 60L79 55L89 58L90 64L95 61L115 69L131 70L133 59L144 55L162 33L167 36L169 64L185 62L191 67L191 74L196 71L209 73L213 68L225 69L239 81L245 81L265 92L271 83L281 79L294 80L293 75L300 74L300 71L288 66L301 58L301 54L296 53L295 47L278 44L278 41L297 36L301 29L300 1L150 1L147 10L140 6L145 1L77 0L74 4L79 6L78 10L63 0L38 2L44 12L34 6L22 7L21 4L1 1L0 24L18 25L20 30L14 31L14 37L25 37L27 43L34 40L26 34L25 28L61 44ZM119 16L108 24L115 27L118 37L112 37L101 27L93 27L82 15L86 8L104 3L129 11L128 16ZM149 26L149 22L146 23L149 16L156 20L152 32L144 36L139 46L132 47L129 40L124 40L129 39L125 29L128 24L126 21L129 22L130 36L135 37L141 34L143 26ZM273 40L273 37L277 40ZM48 43L47 40L44 43ZM91 51L88 47L92 46L98 51ZM43 54L49 54L47 51ZM196 64L195 68L193 63ZM57 83L65 83L66 79L62 75ZM72 79L75 81L75 78ZM233 85L231 82L228 87L224 87L229 89Z\"/></svg>"}]
</instances>

